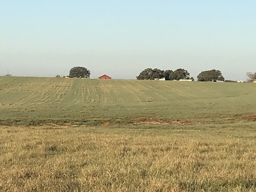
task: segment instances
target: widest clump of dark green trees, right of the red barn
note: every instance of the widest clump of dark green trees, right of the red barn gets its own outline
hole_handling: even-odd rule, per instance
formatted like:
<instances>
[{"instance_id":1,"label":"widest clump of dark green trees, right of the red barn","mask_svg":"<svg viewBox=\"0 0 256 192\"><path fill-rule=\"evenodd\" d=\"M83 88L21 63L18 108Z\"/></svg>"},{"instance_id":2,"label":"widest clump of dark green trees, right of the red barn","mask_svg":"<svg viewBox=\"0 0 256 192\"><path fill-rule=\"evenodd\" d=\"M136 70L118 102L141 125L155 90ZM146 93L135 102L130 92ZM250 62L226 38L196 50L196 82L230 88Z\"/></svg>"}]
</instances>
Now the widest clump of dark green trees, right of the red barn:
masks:
<instances>
[{"instance_id":1,"label":"widest clump of dark green trees, right of the red barn","mask_svg":"<svg viewBox=\"0 0 256 192\"><path fill-rule=\"evenodd\" d=\"M151 69L147 68L139 74L137 79L161 79L165 78L165 80L180 80L180 79L190 79L190 74L187 70L184 69L177 69L175 71L172 70L160 70L160 69ZM193 78L191 78L194 80Z\"/></svg>"}]
</instances>

